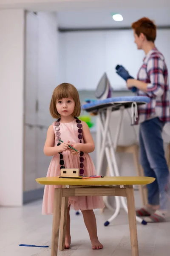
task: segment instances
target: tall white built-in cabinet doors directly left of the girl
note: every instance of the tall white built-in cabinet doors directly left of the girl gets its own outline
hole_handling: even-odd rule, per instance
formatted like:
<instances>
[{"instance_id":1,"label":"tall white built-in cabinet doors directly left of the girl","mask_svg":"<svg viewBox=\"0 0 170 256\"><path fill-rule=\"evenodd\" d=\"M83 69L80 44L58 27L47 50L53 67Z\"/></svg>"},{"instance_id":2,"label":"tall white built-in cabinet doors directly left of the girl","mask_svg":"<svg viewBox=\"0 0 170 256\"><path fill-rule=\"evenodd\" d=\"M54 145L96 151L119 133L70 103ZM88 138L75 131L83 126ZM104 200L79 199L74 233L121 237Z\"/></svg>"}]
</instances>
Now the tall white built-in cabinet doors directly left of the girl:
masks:
<instances>
[{"instance_id":1,"label":"tall white built-in cabinet doors directly left of the girl","mask_svg":"<svg viewBox=\"0 0 170 256\"><path fill-rule=\"evenodd\" d=\"M56 13L26 12L24 192L43 188L35 179L46 176L51 160L43 147L47 127L53 122L51 96L58 84L57 39Z\"/></svg>"}]
</instances>

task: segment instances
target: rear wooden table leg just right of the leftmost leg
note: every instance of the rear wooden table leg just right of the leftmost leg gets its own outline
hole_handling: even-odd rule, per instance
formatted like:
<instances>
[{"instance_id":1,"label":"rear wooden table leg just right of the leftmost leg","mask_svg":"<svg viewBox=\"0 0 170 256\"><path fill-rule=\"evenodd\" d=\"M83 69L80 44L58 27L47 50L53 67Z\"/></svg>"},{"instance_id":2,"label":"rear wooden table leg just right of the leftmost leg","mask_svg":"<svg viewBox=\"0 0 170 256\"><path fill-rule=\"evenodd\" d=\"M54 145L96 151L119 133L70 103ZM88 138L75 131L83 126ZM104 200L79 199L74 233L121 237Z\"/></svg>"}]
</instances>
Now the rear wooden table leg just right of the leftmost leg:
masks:
<instances>
[{"instance_id":1,"label":"rear wooden table leg just right of the leftmost leg","mask_svg":"<svg viewBox=\"0 0 170 256\"><path fill-rule=\"evenodd\" d=\"M65 232L67 226L68 197L62 197L61 204L61 221L59 233L59 250L65 249Z\"/></svg>"}]
</instances>

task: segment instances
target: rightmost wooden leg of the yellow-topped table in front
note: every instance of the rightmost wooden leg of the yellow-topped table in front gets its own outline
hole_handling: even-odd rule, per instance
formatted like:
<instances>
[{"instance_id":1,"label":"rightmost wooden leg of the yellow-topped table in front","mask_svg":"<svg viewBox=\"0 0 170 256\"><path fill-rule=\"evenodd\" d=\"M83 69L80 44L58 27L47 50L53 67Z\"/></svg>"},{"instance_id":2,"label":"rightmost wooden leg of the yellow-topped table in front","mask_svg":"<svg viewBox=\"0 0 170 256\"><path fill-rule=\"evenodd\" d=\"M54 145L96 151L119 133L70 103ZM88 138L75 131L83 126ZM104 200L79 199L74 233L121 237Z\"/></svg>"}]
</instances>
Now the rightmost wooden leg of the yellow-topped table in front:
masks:
<instances>
[{"instance_id":1,"label":"rightmost wooden leg of the yellow-topped table in front","mask_svg":"<svg viewBox=\"0 0 170 256\"><path fill-rule=\"evenodd\" d=\"M127 209L128 209L128 218L129 218L132 256L139 256L137 228L136 228L135 200L134 200L133 188L126 189L126 198L127 198Z\"/></svg>"}]
</instances>

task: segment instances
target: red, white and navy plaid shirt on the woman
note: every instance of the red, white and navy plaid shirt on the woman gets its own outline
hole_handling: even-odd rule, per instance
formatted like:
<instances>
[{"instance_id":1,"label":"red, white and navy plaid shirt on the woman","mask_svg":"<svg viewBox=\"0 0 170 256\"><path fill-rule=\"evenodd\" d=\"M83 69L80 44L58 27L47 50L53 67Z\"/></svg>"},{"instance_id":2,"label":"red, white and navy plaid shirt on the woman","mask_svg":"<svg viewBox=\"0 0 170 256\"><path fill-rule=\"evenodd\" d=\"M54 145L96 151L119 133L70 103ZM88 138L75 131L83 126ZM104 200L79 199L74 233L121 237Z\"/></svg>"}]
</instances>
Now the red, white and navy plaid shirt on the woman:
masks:
<instances>
[{"instance_id":1,"label":"red, white and navy plaid shirt on the woman","mask_svg":"<svg viewBox=\"0 0 170 256\"><path fill-rule=\"evenodd\" d=\"M147 83L147 93L137 90L137 95L150 97L150 103L138 107L136 124L156 116L163 122L170 122L168 70L164 56L156 48L145 56L137 79Z\"/></svg>"}]
</instances>

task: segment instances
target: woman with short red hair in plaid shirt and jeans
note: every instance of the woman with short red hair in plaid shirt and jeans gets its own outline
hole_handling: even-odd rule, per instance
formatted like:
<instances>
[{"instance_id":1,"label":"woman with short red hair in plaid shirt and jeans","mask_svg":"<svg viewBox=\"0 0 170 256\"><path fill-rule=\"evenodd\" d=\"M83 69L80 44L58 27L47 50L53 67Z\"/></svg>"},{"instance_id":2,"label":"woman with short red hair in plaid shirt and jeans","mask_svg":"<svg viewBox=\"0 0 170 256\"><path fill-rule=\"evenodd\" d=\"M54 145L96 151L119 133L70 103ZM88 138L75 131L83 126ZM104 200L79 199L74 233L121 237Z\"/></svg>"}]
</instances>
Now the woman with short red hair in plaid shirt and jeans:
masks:
<instances>
[{"instance_id":1,"label":"woman with short red hair in plaid shirt and jeans","mask_svg":"<svg viewBox=\"0 0 170 256\"><path fill-rule=\"evenodd\" d=\"M144 175L156 180L147 186L148 204L137 210L136 215L147 222L170 219L168 192L170 174L164 156L162 129L170 122L168 70L164 56L156 48L156 25L143 17L132 24L135 43L145 52L137 79L128 79L127 87L135 86L137 95L150 97L150 103L139 106L140 160Z\"/></svg>"}]
</instances>

